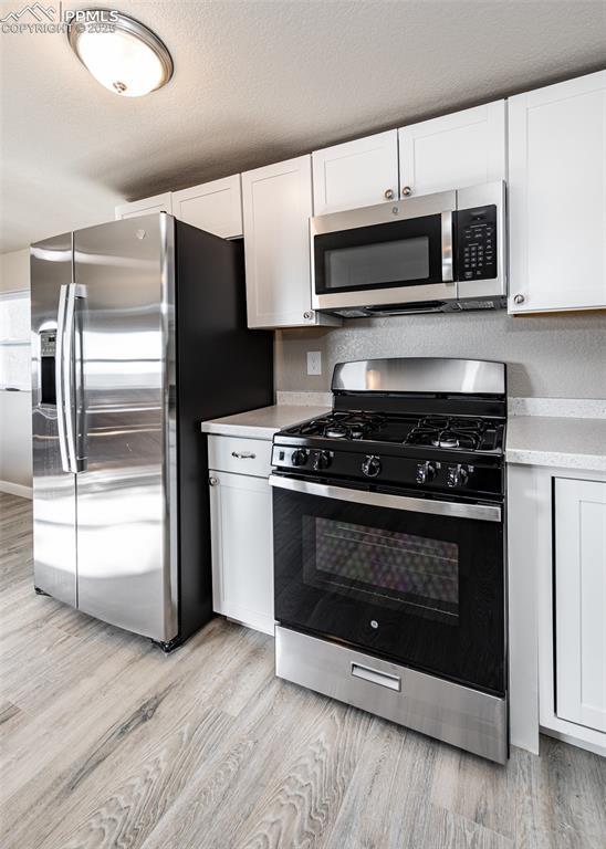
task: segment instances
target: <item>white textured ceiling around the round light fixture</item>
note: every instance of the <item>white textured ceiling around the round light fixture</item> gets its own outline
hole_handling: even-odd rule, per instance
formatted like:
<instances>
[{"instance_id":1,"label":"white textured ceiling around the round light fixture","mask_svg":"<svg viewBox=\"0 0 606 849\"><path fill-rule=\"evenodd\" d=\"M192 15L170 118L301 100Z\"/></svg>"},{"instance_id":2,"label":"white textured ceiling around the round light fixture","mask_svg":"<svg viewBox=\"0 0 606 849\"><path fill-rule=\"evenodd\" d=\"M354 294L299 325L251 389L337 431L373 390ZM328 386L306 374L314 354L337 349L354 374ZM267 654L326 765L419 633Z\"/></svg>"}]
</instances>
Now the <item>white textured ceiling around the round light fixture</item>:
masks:
<instances>
[{"instance_id":1,"label":"white textured ceiling around the round light fixture","mask_svg":"<svg viewBox=\"0 0 606 849\"><path fill-rule=\"evenodd\" d=\"M1 2L1 17L21 6ZM0 34L1 252L112 218L124 199L606 64L602 0L125 0L117 8L173 53L173 80L147 97L100 86L65 35Z\"/></svg>"}]
</instances>

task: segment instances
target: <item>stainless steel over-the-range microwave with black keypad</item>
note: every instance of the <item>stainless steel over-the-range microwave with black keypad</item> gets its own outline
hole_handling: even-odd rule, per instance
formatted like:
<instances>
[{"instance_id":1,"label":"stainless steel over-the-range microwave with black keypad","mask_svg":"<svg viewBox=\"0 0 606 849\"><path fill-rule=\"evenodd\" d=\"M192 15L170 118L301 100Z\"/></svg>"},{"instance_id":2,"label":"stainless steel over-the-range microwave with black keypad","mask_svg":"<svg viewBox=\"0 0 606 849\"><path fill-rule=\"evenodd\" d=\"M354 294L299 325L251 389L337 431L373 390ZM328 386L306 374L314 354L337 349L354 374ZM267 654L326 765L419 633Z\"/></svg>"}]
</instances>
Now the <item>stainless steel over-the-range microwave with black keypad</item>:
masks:
<instances>
[{"instance_id":1,"label":"stainless steel over-the-range microwave with black keypad","mask_svg":"<svg viewBox=\"0 0 606 849\"><path fill-rule=\"evenodd\" d=\"M312 305L346 317L502 307L502 181L311 220Z\"/></svg>"}]
</instances>

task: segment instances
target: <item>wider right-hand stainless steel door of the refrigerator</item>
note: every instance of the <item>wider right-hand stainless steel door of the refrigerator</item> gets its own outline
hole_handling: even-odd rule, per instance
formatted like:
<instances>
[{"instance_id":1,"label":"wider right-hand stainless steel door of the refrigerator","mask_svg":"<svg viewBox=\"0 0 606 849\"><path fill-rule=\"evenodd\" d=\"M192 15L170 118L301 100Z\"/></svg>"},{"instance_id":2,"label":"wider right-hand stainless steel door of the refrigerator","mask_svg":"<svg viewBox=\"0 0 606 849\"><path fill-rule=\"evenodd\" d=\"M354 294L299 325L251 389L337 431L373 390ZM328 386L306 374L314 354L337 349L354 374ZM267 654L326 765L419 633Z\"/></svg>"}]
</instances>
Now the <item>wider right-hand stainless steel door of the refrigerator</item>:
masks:
<instances>
[{"instance_id":1,"label":"wider right-hand stainless steel door of the refrigerator","mask_svg":"<svg viewBox=\"0 0 606 849\"><path fill-rule=\"evenodd\" d=\"M79 607L167 642L178 630L173 244L166 214L74 233Z\"/></svg>"}]
</instances>

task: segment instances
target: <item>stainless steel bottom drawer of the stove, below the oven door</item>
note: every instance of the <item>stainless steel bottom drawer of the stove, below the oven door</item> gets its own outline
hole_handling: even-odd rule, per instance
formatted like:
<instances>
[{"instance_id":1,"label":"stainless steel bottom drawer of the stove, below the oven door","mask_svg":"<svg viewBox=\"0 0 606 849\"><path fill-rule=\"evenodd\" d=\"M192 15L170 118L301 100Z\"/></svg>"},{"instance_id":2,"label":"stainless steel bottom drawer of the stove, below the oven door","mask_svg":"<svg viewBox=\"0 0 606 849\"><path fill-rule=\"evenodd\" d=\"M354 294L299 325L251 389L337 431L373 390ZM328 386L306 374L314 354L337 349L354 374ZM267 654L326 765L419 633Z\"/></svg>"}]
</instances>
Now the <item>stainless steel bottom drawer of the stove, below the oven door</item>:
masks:
<instances>
[{"instance_id":1,"label":"stainless steel bottom drawer of the stove, below the oven door","mask_svg":"<svg viewBox=\"0 0 606 849\"><path fill-rule=\"evenodd\" d=\"M281 626L275 628L275 673L499 764L508 758L504 698Z\"/></svg>"}]
</instances>

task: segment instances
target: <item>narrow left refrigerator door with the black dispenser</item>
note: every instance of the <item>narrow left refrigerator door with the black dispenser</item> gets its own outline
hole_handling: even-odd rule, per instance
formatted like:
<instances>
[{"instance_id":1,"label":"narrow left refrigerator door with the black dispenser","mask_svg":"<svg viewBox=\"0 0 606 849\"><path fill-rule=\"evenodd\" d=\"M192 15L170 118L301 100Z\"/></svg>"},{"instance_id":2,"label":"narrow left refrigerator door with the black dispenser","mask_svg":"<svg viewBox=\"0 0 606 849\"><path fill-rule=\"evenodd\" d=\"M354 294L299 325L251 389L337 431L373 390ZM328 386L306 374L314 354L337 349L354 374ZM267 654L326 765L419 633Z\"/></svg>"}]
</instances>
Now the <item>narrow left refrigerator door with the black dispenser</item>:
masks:
<instances>
[{"instance_id":1,"label":"narrow left refrigerator door with the black dispenser","mask_svg":"<svg viewBox=\"0 0 606 849\"><path fill-rule=\"evenodd\" d=\"M72 234L32 244L32 451L34 585L76 606L76 490L66 461L66 409L61 352L72 283ZM67 346L67 347L69 347Z\"/></svg>"}]
</instances>

